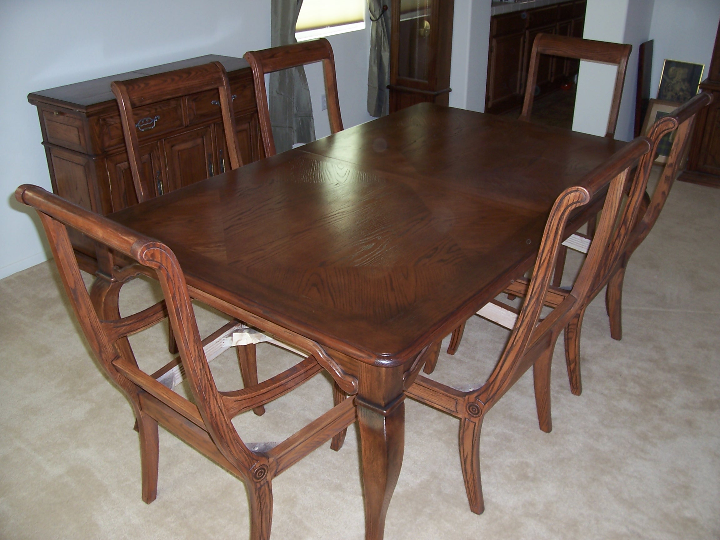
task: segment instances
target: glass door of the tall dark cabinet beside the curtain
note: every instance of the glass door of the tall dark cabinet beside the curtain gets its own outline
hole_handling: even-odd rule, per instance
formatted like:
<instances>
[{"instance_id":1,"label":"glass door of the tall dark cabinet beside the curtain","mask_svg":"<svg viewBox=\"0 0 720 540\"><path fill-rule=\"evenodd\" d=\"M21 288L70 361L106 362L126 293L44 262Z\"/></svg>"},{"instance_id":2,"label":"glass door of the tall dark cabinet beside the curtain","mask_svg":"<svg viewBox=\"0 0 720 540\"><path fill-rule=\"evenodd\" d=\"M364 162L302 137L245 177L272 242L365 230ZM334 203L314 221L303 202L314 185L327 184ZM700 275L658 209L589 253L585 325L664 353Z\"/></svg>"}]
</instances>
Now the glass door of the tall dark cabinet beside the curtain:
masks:
<instances>
[{"instance_id":1,"label":"glass door of the tall dark cabinet beside the curtain","mask_svg":"<svg viewBox=\"0 0 720 540\"><path fill-rule=\"evenodd\" d=\"M400 0L398 78L427 81L430 76L432 0Z\"/></svg>"}]
</instances>

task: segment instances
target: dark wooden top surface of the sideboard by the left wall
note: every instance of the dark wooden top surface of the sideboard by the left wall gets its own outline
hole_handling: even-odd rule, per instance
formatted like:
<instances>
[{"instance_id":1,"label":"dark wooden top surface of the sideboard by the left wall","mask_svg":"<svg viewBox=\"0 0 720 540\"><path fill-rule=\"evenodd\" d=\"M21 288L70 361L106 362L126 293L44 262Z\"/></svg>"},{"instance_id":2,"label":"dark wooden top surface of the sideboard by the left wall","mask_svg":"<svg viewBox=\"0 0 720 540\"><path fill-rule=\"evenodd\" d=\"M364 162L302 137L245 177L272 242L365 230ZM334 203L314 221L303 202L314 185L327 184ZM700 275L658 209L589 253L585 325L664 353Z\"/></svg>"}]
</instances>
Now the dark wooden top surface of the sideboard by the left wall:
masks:
<instances>
[{"instance_id":1,"label":"dark wooden top surface of the sideboard by the left wall","mask_svg":"<svg viewBox=\"0 0 720 540\"><path fill-rule=\"evenodd\" d=\"M112 81L127 81L130 78L138 78L146 75L155 75L156 73L164 73L173 71L174 69L187 68L189 66L199 66L200 64L209 63L218 60L225 66L225 71L236 71L242 68L248 68L249 64L243 58L235 58L233 56L221 55L204 55L197 58L189 58L188 60L179 60L162 64L161 66L153 66L152 68L138 69L127 73L118 73L107 77L94 78L91 81L83 81L81 83L66 84L47 90L40 90L27 94L27 101L36 105L40 102L60 104L71 107L82 112L87 112L87 108L93 105L105 102L115 102L115 96L110 90Z\"/></svg>"}]
</instances>

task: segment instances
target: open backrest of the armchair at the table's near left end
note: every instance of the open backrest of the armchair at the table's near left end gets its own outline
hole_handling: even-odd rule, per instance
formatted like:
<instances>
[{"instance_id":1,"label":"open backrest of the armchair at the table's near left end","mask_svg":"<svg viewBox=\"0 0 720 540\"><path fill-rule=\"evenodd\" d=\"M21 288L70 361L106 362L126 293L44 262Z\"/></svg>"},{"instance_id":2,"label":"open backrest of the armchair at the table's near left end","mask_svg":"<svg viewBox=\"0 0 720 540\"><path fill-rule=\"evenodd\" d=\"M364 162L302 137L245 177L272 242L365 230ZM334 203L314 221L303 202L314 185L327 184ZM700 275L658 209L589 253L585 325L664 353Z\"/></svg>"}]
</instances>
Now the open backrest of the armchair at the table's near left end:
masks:
<instances>
[{"instance_id":1,"label":"open backrest of the armchair at the table's near left end","mask_svg":"<svg viewBox=\"0 0 720 540\"><path fill-rule=\"evenodd\" d=\"M15 197L19 202L34 207L40 215L73 312L103 371L117 383L133 405L140 406L139 395L144 390L207 431L220 450L216 451L217 459L222 459L225 465L230 462L235 472L246 476L253 464L258 463L258 456L243 444L230 422L207 364L184 274L170 248L37 186L19 186ZM68 238L68 227L136 261L137 264L118 270L115 278L122 280L138 274L156 274L164 301L140 314L119 320L101 318L78 269ZM166 317L169 317L176 336L194 402L140 371L127 341L127 336Z\"/></svg>"}]
</instances>

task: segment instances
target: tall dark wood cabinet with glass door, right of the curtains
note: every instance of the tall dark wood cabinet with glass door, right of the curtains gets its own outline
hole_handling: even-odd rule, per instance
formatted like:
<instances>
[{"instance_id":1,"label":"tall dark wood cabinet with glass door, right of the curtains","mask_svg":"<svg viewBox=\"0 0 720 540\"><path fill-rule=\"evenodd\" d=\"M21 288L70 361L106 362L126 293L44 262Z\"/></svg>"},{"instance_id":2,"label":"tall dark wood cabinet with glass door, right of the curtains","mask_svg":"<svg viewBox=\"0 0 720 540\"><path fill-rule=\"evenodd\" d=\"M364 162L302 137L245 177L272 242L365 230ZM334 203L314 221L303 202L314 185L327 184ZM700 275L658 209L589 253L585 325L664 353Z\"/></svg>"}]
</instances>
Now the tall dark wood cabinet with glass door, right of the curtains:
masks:
<instances>
[{"instance_id":1,"label":"tall dark wood cabinet with glass door, right of the curtains","mask_svg":"<svg viewBox=\"0 0 720 540\"><path fill-rule=\"evenodd\" d=\"M390 112L448 104L453 12L454 0L392 0Z\"/></svg>"}]
</instances>

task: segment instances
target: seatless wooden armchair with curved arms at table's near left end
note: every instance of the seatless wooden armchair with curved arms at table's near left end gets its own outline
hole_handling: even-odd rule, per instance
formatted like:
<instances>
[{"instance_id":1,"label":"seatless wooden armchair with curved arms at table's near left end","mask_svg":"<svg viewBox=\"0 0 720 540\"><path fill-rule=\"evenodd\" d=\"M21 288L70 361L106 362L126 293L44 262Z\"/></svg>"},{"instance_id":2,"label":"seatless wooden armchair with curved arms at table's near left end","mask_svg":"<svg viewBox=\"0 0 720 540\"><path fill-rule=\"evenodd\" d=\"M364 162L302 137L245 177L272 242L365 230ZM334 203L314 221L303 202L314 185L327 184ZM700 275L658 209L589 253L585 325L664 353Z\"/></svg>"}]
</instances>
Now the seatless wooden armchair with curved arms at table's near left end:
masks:
<instances>
[{"instance_id":1,"label":"seatless wooden armchair with curved arms at table's near left end","mask_svg":"<svg viewBox=\"0 0 720 540\"><path fill-rule=\"evenodd\" d=\"M170 248L37 186L19 186L15 197L37 210L63 286L89 346L104 374L130 401L138 420L145 503L151 503L157 495L159 423L243 481L251 513L250 538L269 539L273 505L271 480L354 423L355 400L354 397L343 400L277 445L246 444L233 426L233 417L287 394L323 370L351 396L357 392L357 380L343 372L318 343L248 313L247 320L253 325L310 351L310 356L261 384L220 392L207 363L204 346L210 343L200 339L185 277ZM78 268L68 228L135 261L112 269L112 275L107 276L109 282L122 284L140 274L154 276L161 284L164 300L121 317L117 303L92 297ZM138 366L127 336L164 318L169 318L177 336L179 357L148 374ZM174 370L186 377L192 401L163 384L167 382L167 374Z\"/></svg>"}]
</instances>

